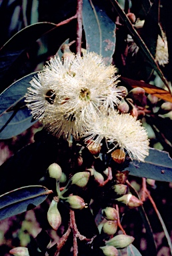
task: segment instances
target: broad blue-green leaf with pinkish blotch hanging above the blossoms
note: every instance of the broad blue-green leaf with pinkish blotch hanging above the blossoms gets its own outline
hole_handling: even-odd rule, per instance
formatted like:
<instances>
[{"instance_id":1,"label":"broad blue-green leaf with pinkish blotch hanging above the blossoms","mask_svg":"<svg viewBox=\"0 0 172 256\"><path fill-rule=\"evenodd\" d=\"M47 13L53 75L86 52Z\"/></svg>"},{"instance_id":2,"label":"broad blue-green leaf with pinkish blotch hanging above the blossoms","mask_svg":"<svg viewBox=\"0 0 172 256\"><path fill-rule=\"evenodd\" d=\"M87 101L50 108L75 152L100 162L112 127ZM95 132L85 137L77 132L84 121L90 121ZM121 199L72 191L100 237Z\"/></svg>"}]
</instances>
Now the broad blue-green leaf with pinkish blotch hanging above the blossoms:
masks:
<instances>
[{"instance_id":1,"label":"broad blue-green leaf with pinkish blotch hanging above the blossoms","mask_svg":"<svg viewBox=\"0 0 172 256\"><path fill-rule=\"evenodd\" d=\"M83 27L87 50L111 63L115 51L115 23L107 16L103 1L83 0Z\"/></svg>"}]
</instances>

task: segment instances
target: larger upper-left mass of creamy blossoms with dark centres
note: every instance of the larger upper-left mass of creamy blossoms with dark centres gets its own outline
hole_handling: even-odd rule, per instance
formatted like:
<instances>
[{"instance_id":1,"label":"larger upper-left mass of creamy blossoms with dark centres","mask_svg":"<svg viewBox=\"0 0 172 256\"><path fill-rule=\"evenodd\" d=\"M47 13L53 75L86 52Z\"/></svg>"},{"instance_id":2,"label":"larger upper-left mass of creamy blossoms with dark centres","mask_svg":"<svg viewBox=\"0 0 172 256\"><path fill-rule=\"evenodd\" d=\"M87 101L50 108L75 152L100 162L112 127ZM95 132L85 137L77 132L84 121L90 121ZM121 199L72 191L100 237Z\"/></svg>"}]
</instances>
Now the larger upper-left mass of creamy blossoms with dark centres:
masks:
<instances>
[{"instance_id":1,"label":"larger upper-left mass of creamy blossoms with dark centres","mask_svg":"<svg viewBox=\"0 0 172 256\"><path fill-rule=\"evenodd\" d=\"M96 53L79 54L73 58L53 57L25 95L34 118L57 137L73 134L75 138L85 129L91 117L98 116L100 107L114 109L123 95L117 88L115 67L105 65Z\"/></svg>"}]
</instances>

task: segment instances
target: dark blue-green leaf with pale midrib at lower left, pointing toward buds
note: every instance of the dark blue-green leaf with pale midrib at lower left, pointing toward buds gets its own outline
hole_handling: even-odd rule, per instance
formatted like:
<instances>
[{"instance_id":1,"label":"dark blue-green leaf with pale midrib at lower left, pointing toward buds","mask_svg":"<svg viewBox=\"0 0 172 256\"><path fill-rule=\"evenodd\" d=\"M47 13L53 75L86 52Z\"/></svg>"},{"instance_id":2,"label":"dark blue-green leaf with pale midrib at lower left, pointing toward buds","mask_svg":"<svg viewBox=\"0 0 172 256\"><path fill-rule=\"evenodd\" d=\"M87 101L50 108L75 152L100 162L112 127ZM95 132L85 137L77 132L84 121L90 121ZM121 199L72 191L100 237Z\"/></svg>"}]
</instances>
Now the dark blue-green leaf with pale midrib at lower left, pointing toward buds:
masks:
<instances>
[{"instance_id":1,"label":"dark blue-green leaf with pale midrib at lower left, pointing toward buds","mask_svg":"<svg viewBox=\"0 0 172 256\"><path fill-rule=\"evenodd\" d=\"M51 190L41 185L20 187L0 196L0 220L33 209L47 198Z\"/></svg>"}]
</instances>

